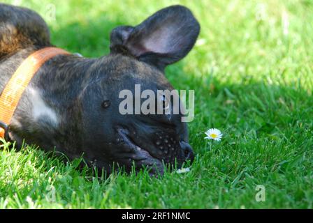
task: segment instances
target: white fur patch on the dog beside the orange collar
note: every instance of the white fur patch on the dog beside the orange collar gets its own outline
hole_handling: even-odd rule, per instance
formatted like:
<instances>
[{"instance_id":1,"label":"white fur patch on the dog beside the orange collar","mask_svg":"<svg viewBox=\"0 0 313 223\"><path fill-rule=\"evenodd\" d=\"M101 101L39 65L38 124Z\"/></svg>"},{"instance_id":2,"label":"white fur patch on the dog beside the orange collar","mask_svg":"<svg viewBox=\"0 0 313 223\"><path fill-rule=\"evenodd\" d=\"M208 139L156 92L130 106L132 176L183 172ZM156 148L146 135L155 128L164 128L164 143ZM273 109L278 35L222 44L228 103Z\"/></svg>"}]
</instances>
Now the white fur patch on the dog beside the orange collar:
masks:
<instances>
[{"instance_id":1,"label":"white fur patch on the dog beside the orange collar","mask_svg":"<svg viewBox=\"0 0 313 223\"><path fill-rule=\"evenodd\" d=\"M38 118L45 116L48 117L50 121L57 126L59 123L57 113L45 104L38 90L29 89L29 91L31 93L31 103L33 105L32 115L35 121L38 121Z\"/></svg>"}]
</instances>

